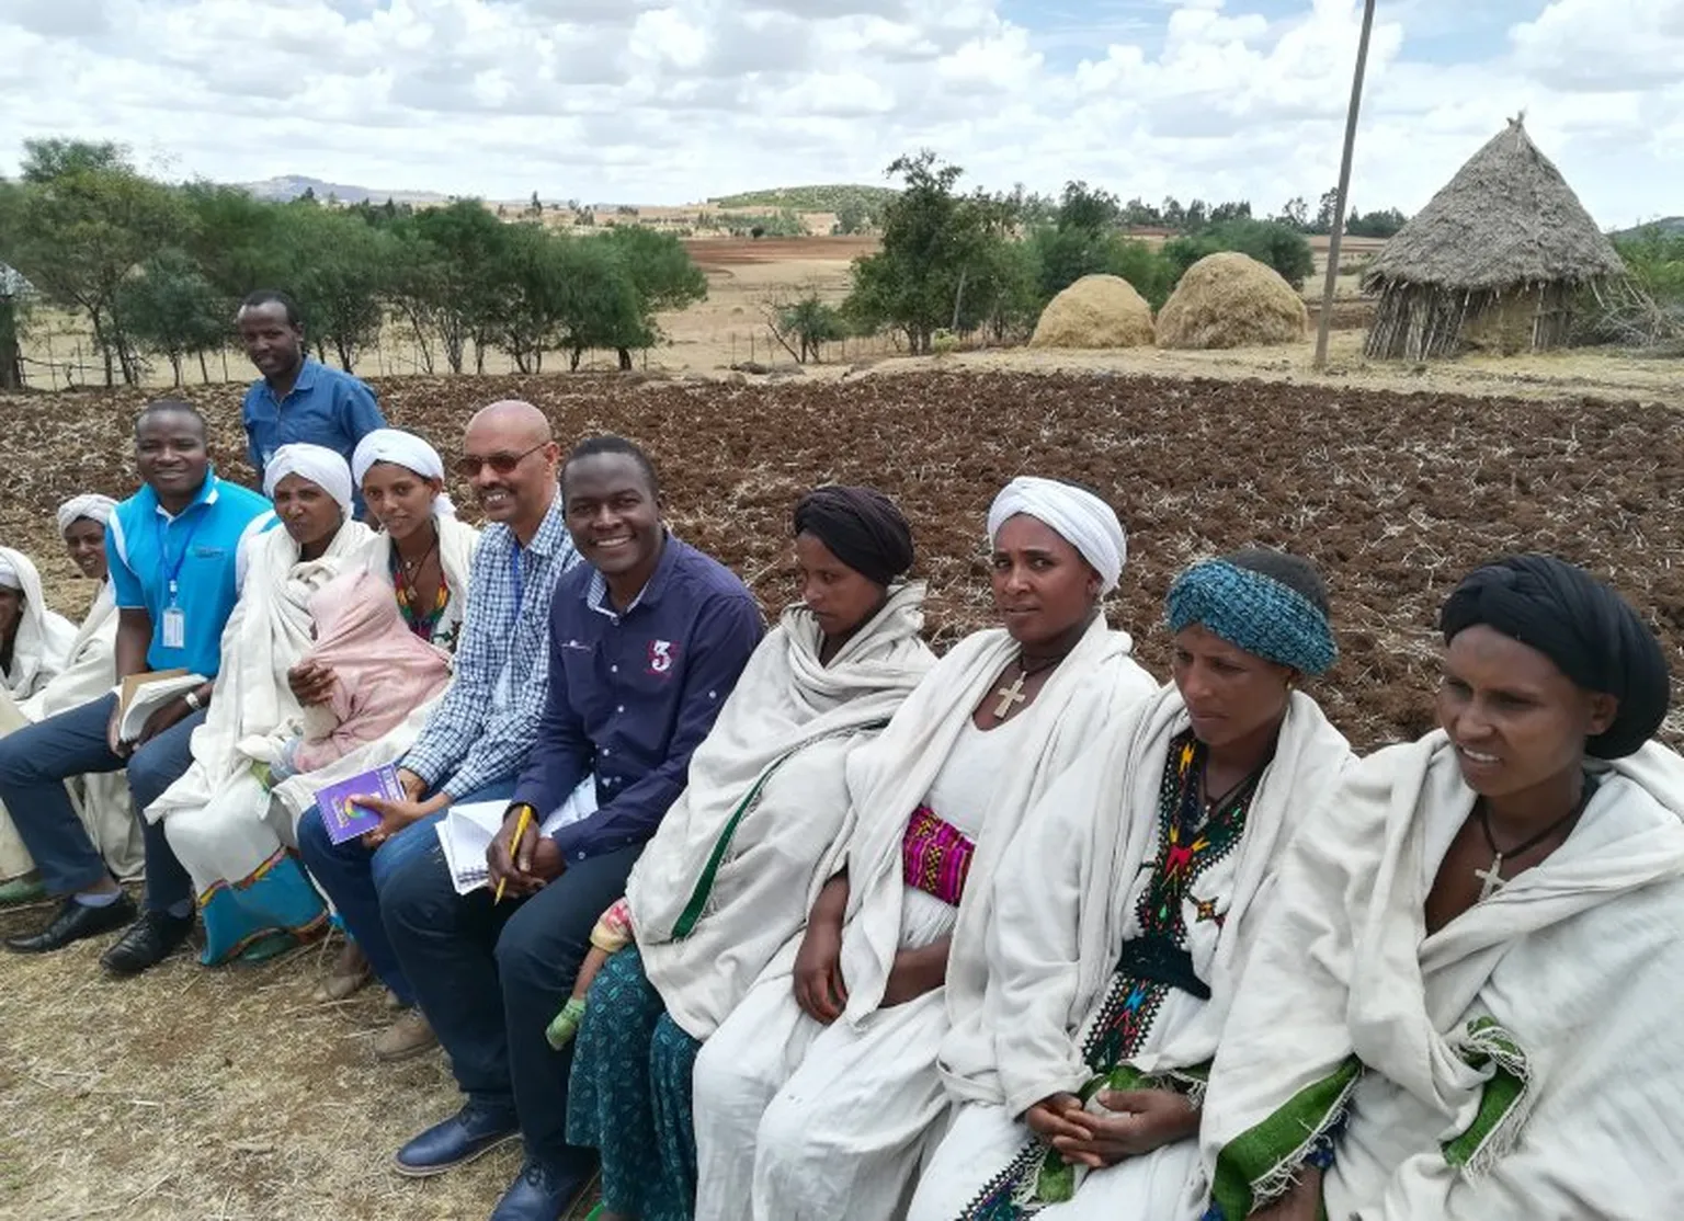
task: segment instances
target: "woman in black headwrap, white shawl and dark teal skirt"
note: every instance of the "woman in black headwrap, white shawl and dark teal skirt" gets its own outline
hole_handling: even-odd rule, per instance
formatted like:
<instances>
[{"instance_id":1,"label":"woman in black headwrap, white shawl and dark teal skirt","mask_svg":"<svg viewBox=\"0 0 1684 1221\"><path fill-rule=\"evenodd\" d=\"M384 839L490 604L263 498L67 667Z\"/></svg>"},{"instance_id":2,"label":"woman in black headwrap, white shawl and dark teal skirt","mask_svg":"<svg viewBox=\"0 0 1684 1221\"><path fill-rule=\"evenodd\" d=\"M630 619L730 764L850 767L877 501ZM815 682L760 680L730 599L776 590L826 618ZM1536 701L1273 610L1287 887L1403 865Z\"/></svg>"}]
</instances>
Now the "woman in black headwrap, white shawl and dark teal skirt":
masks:
<instances>
[{"instance_id":1,"label":"woman in black headwrap, white shawl and dark teal skirt","mask_svg":"<svg viewBox=\"0 0 1684 1221\"><path fill-rule=\"evenodd\" d=\"M608 960L583 1010L568 1137L601 1150L606 1218L690 1216L695 1053L773 960L788 972L847 842L847 760L935 665L925 586L901 581L911 527L887 497L817 488L793 525L803 601L695 749L626 882L637 948Z\"/></svg>"}]
</instances>

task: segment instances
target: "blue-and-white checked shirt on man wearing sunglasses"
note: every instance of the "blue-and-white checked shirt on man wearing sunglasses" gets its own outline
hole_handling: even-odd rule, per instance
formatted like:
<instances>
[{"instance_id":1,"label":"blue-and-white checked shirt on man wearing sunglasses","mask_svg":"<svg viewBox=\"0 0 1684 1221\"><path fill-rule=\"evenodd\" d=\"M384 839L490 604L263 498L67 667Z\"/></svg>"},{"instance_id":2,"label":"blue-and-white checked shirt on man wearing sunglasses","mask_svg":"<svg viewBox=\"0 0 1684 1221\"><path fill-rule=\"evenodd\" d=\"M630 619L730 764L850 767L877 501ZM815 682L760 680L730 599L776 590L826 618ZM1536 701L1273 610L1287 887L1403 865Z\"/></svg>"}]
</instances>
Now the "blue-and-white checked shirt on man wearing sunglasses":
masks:
<instances>
[{"instance_id":1,"label":"blue-and-white checked shirt on man wearing sunglasses","mask_svg":"<svg viewBox=\"0 0 1684 1221\"><path fill-rule=\"evenodd\" d=\"M402 760L451 800L514 780L537 739L549 687L549 608L556 581L579 563L561 490L525 547L487 525L468 573L456 672Z\"/></svg>"}]
</instances>

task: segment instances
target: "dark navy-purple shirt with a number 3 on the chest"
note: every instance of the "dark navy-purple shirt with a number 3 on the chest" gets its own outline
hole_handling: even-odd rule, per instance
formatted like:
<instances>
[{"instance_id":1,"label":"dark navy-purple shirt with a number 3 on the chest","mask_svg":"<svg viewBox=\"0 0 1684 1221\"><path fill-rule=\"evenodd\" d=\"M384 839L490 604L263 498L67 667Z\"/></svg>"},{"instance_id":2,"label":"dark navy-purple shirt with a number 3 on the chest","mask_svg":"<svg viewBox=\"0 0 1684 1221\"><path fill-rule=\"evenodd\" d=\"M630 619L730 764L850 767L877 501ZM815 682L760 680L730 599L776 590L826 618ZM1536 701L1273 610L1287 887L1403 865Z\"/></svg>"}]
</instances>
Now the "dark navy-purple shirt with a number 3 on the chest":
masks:
<instances>
[{"instance_id":1,"label":"dark navy-purple shirt with a number 3 on the chest","mask_svg":"<svg viewBox=\"0 0 1684 1221\"><path fill-rule=\"evenodd\" d=\"M549 620L549 699L514 800L546 815L594 773L596 813L554 835L573 864L655 834L765 623L731 569L672 536L623 613L581 564Z\"/></svg>"}]
</instances>

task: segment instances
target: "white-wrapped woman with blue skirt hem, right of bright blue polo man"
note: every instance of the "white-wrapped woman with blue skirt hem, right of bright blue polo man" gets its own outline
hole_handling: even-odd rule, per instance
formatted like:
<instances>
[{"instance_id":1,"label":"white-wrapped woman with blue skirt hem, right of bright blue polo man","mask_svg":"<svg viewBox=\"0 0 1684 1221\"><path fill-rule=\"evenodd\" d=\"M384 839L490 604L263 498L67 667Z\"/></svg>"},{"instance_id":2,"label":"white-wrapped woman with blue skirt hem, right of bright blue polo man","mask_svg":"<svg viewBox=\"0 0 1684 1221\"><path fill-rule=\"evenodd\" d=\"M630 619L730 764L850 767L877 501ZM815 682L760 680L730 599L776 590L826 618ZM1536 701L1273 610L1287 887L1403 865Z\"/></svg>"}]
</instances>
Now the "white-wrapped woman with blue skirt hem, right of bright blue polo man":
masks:
<instances>
[{"instance_id":1,"label":"white-wrapped woman with blue skirt hem, right of bright blue polo man","mask_svg":"<svg viewBox=\"0 0 1684 1221\"><path fill-rule=\"evenodd\" d=\"M246 583L222 630L194 763L147 808L192 874L205 921L207 965L266 957L327 921L320 896L293 857L293 827L274 815L263 773L293 736L301 709L286 682L310 648L310 596L354 563L369 527L350 517L345 460L320 445L283 445L263 490L285 529L248 544Z\"/></svg>"}]
</instances>

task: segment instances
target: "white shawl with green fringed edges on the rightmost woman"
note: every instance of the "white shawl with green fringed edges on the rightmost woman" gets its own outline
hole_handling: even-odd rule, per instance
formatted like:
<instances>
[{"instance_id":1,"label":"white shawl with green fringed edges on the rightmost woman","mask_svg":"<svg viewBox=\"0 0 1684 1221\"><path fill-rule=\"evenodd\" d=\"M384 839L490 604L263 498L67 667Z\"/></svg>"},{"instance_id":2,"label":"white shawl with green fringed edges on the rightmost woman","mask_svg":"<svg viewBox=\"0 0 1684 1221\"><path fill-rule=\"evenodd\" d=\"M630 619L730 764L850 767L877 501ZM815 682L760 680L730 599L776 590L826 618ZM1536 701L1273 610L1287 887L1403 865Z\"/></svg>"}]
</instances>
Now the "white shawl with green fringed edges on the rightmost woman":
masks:
<instances>
[{"instance_id":1,"label":"white shawl with green fringed edges on the rightmost woman","mask_svg":"<svg viewBox=\"0 0 1684 1221\"><path fill-rule=\"evenodd\" d=\"M1426 935L1423 904L1474 793L1442 731L1352 768L1282 866L1206 1095L1202 1182L1266 1197L1302 1159L1241 1160L1300 1090L1364 1066L1325 1182L1357 1221L1669 1216L1684 1196L1684 760L1612 765L1566 844ZM1495 1068L1468 1022L1524 1056L1509 1118L1474 1128ZM1268 1123L1265 1123L1268 1122ZM1263 1125L1263 1127L1260 1127ZM1443 1142L1484 1133L1457 1164ZM1315 1128L1293 1122L1308 1140ZM1239 1140L1244 1137L1244 1140ZM1302 1144L1302 1142L1300 1142Z\"/></svg>"}]
</instances>

